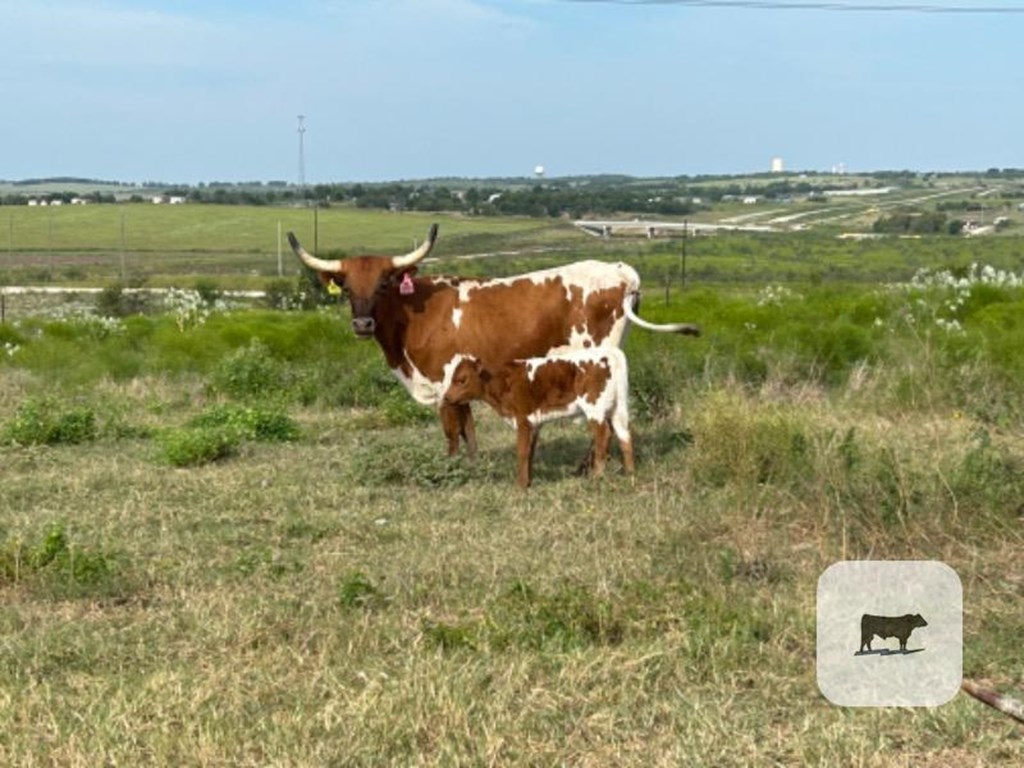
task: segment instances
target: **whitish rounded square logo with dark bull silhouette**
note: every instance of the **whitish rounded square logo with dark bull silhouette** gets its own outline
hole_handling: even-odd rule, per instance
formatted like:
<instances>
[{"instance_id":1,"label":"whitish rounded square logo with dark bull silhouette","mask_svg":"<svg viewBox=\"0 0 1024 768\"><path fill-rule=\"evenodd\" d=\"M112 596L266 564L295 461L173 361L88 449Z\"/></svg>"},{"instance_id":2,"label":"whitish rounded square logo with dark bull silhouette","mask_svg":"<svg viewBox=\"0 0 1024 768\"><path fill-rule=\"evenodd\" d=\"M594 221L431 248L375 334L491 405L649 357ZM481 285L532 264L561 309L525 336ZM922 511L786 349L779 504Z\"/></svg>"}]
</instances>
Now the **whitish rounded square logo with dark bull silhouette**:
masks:
<instances>
[{"instance_id":1,"label":"whitish rounded square logo with dark bull silhouette","mask_svg":"<svg viewBox=\"0 0 1024 768\"><path fill-rule=\"evenodd\" d=\"M937 560L848 560L818 579L817 677L842 707L937 707L964 675L964 590Z\"/></svg>"}]
</instances>

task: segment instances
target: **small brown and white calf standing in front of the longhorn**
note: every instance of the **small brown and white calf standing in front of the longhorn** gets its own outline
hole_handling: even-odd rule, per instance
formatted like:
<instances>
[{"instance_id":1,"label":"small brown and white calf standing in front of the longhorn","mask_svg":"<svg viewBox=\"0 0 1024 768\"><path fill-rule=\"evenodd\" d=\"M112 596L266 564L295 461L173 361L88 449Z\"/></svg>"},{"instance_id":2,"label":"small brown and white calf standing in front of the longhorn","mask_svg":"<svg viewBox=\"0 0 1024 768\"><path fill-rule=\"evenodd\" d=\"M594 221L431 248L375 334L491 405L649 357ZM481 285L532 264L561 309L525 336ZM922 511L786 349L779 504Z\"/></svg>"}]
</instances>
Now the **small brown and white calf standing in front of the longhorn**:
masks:
<instances>
[{"instance_id":1,"label":"small brown and white calf standing in front of the longhorn","mask_svg":"<svg viewBox=\"0 0 1024 768\"><path fill-rule=\"evenodd\" d=\"M629 375L617 347L562 350L495 367L458 354L445 367L443 391L444 402L452 406L482 399L516 428L522 487L529 485L541 426L555 419L587 419L594 438L593 474L604 469L612 431L624 468L634 471Z\"/></svg>"}]
</instances>

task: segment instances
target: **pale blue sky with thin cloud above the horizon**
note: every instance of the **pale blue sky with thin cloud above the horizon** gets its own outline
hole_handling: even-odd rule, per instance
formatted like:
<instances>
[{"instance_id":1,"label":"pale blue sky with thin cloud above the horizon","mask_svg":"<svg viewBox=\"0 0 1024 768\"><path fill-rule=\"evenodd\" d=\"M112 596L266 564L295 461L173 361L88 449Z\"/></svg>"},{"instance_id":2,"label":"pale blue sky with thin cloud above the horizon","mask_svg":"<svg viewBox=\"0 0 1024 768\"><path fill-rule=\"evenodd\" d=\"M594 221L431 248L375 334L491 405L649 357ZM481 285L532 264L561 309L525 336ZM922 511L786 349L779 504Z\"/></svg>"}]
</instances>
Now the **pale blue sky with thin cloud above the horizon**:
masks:
<instances>
[{"instance_id":1,"label":"pale blue sky with thin cloud above the horizon","mask_svg":"<svg viewBox=\"0 0 1024 768\"><path fill-rule=\"evenodd\" d=\"M1014 11L0 0L0 179L677 176L775 157L792 171L1022 168Z\"/></svg>"}]
</instances>

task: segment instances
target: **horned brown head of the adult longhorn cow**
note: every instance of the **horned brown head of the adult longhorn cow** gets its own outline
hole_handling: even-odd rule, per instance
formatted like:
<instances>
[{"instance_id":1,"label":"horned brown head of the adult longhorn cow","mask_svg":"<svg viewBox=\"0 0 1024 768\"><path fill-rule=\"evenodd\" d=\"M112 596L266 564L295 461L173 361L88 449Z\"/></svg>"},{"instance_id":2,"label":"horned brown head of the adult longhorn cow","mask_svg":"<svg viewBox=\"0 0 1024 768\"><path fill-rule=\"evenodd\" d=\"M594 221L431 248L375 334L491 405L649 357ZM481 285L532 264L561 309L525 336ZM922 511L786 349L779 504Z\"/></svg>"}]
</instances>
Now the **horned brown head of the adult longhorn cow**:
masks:
<instances>
[{"instance_id":1,"label":"horned brown head of the adult longhorn cow","mask_svg":"<svg viewBox=\"0 0 1024 768\"><path fill-rule=\"evenodd\" d=\"M355 256L347 259L318 259L299 245L293 232L288 242L295 255L314 270L325 285L334 284L348 295L352 310L352 332L369 339L377 330L374 316L377 300L385 291L394 289L403 279L411 278L416 264L426 257L437 240L437 224L419 248L403 256Z\"/></svg>"}]
</instances>

